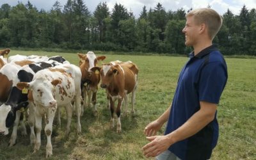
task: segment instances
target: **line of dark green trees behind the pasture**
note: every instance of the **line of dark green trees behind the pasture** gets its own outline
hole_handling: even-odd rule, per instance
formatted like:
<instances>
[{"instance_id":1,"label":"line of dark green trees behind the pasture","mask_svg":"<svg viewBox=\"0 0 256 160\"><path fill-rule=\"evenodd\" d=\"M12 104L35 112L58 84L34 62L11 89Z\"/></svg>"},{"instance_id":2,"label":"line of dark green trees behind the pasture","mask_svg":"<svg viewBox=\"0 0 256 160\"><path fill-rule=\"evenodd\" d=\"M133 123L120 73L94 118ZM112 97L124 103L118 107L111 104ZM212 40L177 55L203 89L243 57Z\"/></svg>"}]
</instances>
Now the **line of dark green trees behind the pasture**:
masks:
<instances>
[{"instance_id":1,"label":"line of dark green trees behind the pasture","mask_svg":"<svg viewBox=\"0 0 256 160\"><path fill-rule=\"evenodd\" d=\"M38 11L29 1L3 4L0 46L187 54L192 49L184 45L182 28L190 10L166 11L158 3L149 10L143 6L136 19L117 3L112 11L106 2L99 3L93 13L83 0L67 0L64 6L56 1L49 11ZM227 9L222 16L223 26L214 38L221 52L256 55L255 8L244 5L239 15Z\"/></svg>"}]
</instances>

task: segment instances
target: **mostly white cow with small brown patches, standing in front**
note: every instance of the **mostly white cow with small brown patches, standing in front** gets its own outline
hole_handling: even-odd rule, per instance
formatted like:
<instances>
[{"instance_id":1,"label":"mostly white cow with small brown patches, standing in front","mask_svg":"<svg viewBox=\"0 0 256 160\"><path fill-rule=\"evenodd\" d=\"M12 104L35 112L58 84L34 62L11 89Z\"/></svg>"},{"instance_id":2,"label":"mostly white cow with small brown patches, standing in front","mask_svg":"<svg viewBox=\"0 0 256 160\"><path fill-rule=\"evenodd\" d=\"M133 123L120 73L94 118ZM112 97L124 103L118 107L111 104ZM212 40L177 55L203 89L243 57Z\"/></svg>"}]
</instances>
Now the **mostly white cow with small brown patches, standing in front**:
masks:
<instances>
[{"instance_id":1,"label":"mostly white cow with small brown patches, standing in front","mask_svg":"<svg viewBox=\"0 0 256 160\"><path fill-rule=\"evenodd\" d=\"M28 88L32 91L29 99L33 100L35 104L36 143L34 152L39 150L41 145L42 116L47 115L47 124L44 129L47 136L46 157L52 156L52 122L56 109L61 106L64 106L67 112L66 134L68 134L72 118L72 106L70 105L72 99L76 100L77 132L81 133L80 83L81 71L79 67L70 64L40 70L36 72L30 83L17 83L20 90Z\"/></svg>"}]
</instances>

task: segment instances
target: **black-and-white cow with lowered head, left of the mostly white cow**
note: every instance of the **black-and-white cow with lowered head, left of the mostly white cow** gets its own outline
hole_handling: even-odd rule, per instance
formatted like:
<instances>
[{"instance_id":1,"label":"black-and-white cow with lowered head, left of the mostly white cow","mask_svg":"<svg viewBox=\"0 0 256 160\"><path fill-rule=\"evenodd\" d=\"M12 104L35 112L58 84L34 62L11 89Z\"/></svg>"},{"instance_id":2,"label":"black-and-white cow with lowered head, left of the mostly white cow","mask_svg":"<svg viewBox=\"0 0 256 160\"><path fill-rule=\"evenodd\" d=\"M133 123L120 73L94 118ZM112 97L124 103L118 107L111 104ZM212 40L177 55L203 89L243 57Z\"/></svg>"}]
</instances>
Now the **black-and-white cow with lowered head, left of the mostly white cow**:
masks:
<instances>
[{"instance_id":1,"label":"black-and-white cow with lowered head, left of the mostly white cow","mask_svg":"<svg viewBox=\"0 0 256 160\"><path fill-rule=\"evenodd\" d=\"M17 108L17 106L26 107L24 104L20 105L20 103L28 101L28 90L20 91L16 86L17 83L31 82L33 79L33 76L39 70L61 64L53 60L50 60L47 62L39 62L39 63L31 63L31 61L24 61L24 63L29 63L29 64L24 65L22 68L20 68L19 72L17 72L15 78L13 79L12 90L10 92L8 99L4 104L0 106L0 114L1 116L3 116L3 118L0 118L0 133L3 135L8 134L8 128L13 125L13 132L10 140L10 146L13 146L15 144L15 141L17 138L17 127L19 125L19 120L20 120L20 111L18 111L19 109ZM33 104L31 103L28 106L29 106L28 122L29 122L29 126L31 127L30 141L31 143L35 143L34 108L33 108ZM7 115L10 115L10 116L7 116ZM26 134L25 131L24 131L24 134Z\"/></svg>"}]
</instances>

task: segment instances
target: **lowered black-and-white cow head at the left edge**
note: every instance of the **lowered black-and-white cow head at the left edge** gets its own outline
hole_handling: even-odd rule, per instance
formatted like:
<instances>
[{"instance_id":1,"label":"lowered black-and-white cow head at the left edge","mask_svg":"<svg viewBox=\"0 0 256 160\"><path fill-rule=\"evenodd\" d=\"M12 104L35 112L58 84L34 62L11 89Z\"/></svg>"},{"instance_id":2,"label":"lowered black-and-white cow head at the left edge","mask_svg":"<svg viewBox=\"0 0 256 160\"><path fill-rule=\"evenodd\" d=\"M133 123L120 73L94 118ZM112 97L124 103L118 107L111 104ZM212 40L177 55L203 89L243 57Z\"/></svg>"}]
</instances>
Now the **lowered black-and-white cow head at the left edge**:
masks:
<instances>
[{"instance_id":1,"label":"lowered black-and-white cow head at the left edge","mask_svg":"<svg viewBox=\"0 0 256 160\"><path fill-rule=\"evenodd\" d=\"M7 135L16 118L16 111L26 108L28 102L20 102L20 104L1 104L0 106L0 134Z\"/></svg>"}]
</instances>

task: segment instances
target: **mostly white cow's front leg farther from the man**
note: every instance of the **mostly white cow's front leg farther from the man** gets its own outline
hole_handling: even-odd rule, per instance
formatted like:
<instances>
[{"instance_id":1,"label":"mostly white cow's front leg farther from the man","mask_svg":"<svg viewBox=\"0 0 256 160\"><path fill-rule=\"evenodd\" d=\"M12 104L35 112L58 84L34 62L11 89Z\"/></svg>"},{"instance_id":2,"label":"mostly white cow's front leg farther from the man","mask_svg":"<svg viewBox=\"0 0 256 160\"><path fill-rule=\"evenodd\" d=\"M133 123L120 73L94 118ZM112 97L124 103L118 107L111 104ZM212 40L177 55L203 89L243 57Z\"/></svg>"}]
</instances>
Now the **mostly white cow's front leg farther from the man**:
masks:
<instances>
[{"instance_id":1,"label":"mostly white cow's front leg farther from the man","mask_svg":"<svg viewBox=\"0 0 256 160\"><path fill-rule=\"evenodd\" d=\"M36 126L36 143L33 153L39 150L41 146L41 130L42 130L42 115L40 113L35 113L35 126Z\"/></svg>"}]
</instances>

